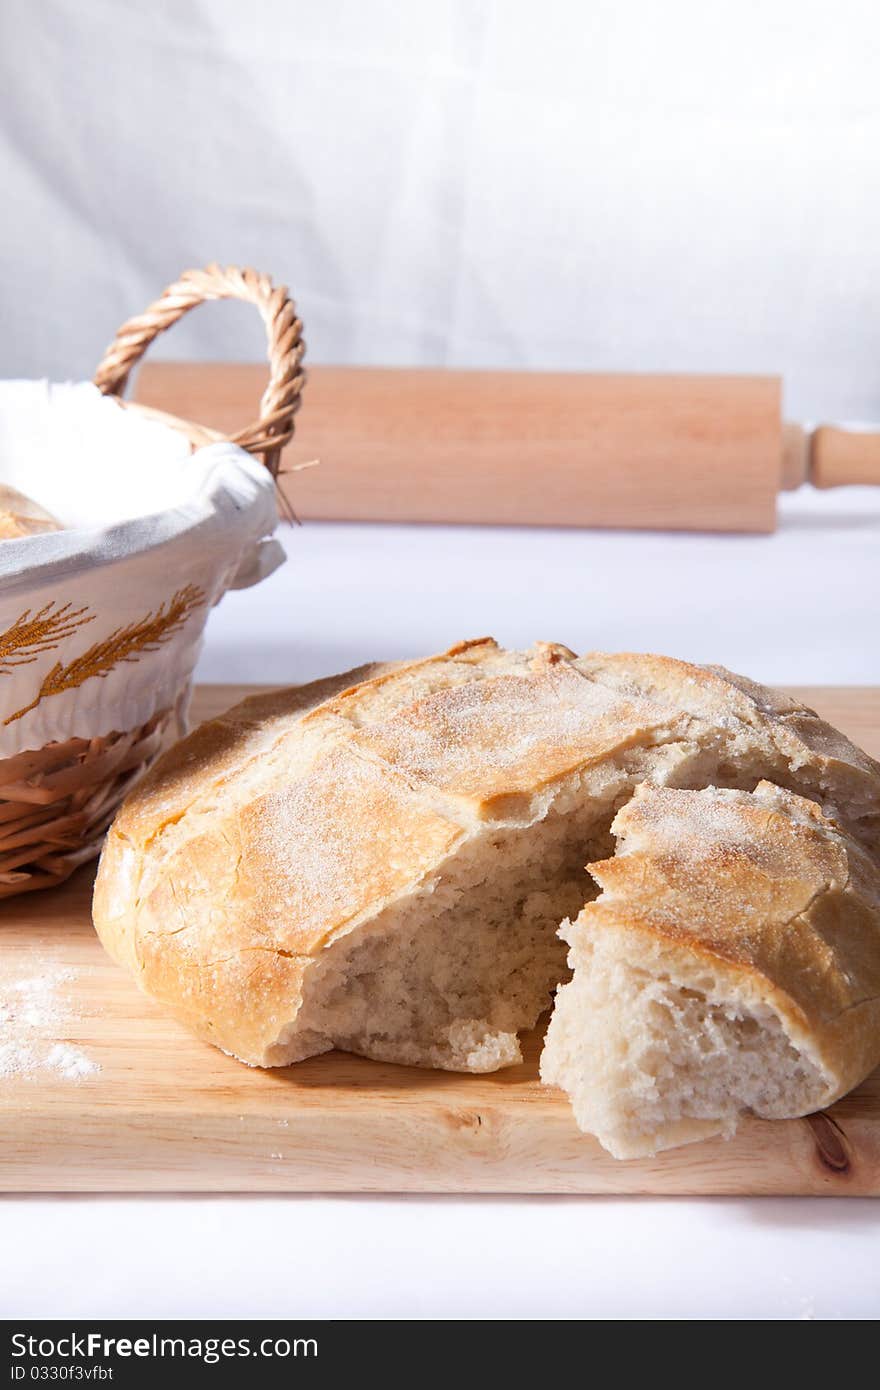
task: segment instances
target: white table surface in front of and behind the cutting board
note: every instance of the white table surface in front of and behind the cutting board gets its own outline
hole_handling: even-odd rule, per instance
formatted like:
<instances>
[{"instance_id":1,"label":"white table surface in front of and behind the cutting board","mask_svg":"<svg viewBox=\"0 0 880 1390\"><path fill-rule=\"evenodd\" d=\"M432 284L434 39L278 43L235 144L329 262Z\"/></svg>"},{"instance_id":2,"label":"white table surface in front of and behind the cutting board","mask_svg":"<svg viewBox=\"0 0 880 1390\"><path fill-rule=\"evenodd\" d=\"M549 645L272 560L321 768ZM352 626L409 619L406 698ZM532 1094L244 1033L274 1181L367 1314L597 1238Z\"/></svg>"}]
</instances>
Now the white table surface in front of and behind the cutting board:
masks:
<instances>
[{"instance_id":1,"label":"white table surface in front of and behind the cutting board","mask_svg":"<svg viewBox=\"0 0 880 1390\"><path fill-rule=\"evenodd\" d=\"M298 681L491 632L772 682L880 682L880 493L783 499L773 537L304 525L211 616L199 674ZM867 1318L880 1202L0 1200L15 1316Z\"/></svg>"}]
</instances>

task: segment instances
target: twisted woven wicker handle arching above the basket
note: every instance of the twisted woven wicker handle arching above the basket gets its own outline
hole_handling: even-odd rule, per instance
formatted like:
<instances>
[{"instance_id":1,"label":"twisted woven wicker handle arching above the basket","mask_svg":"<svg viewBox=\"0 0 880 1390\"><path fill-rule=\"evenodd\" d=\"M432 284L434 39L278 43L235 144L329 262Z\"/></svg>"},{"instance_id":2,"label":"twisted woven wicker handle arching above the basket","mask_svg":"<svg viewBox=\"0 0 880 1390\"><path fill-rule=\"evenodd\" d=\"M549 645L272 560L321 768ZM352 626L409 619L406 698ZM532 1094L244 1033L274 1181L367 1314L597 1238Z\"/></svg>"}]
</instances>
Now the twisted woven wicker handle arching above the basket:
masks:
<instances>
[{"instance_id":1,"label":"twisted woven wicker handle arching above the basket","mask_svg":"<svg viewBox=\"0 0 880 1390\"><path fill-rule=\"evenodd\" d=\"M306 384L302 367L306 345L303 325L286 286L274 288L268 277L235 265L185 270L143 314L122 324L99 363L95 385L106 396L121 396L132 367L153 339L207 299L243 299L257 307L266 324L268 386L260 400L260 416L231 438L249 453L261 455L275 478L281 450L293 435L293 416Z\"/></svg>"}]
</instances>

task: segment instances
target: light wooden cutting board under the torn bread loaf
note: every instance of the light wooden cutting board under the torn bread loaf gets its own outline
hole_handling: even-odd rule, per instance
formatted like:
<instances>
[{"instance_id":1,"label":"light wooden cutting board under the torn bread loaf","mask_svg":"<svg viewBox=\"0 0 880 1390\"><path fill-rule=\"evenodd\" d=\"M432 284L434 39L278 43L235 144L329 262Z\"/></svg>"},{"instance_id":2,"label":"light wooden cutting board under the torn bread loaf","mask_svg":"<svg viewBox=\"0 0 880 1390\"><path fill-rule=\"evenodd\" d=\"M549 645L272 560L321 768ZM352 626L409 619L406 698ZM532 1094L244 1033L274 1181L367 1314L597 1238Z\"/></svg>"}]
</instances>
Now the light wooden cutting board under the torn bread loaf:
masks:
<instances>
[{"instance_id":1,"label":"light wooden cutting board under the torn bread loaf","mask_svg":"<svg viewBox=\"0 0 880 1390\"><path fill-rule=\"evenodd\" d=\"M242 694L202 691L196 717ZM880 756L879 689L798 694ZM15 984L57 980L51 1006L28 1023L32 1065L3 1076L0 1049L3 1191L880 1194L880 1072L824 1115L749 1119L728 1143L620 1163L538 1084L537 1036L521 1066L494 1076L336 1052L245 1068L110 962L89 922L92 877L0 903L0 1041L3 1005L31 998ZM72 1049L63 1062L100 1070L46 1066L58 1045Z\"/></svg>"}]
</instances>

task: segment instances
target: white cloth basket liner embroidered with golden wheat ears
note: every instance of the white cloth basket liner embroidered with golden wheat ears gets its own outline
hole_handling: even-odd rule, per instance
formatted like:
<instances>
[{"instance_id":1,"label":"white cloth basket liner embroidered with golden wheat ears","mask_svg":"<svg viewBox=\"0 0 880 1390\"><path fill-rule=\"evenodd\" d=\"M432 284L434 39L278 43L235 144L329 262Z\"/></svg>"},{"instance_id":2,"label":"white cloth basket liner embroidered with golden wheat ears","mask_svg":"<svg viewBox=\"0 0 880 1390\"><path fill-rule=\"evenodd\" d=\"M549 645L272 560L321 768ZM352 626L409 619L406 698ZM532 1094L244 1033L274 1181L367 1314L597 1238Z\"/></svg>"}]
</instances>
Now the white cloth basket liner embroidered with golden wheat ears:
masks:
<instances>
[{"instance_id":1,"label":"white cloth basket liner embroidered with golden wheat ears","mask_svg":"<svg viewBox=\"0 0 880 1390\"><path fill-rule=\"evenodd\" d=\"M0 542L0 758L179 706L211 606L284 559L263 464L90 384L0 382L0 481L65 525Z\"/></svg>"}]
</instances>

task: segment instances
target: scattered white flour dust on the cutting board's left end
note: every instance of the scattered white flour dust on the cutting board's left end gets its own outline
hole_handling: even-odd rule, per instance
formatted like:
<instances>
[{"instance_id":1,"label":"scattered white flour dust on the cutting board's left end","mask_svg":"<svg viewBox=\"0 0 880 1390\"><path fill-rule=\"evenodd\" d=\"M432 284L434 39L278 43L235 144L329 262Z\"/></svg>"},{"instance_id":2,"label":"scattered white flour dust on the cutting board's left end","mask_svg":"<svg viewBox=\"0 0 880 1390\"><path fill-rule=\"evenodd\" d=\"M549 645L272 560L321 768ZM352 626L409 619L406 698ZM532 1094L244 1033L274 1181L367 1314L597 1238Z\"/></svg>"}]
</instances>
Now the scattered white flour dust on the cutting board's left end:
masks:
<instances>
[{"instance_id":1,"label":"scattered white flour dust on the cutting board's left end","mask_svg":"<svg viewBox=\"0 0 880 1390\"><path fill-rule=\"evenodd\" d=\"M49 1072L81 1081L100 1072L97 1062L64 1041L64 1024L76 1017L67 986L72 970L0 977L0 1077Z\"/></svg>"}]
</instances>

